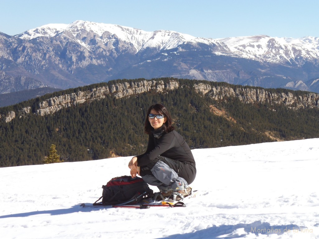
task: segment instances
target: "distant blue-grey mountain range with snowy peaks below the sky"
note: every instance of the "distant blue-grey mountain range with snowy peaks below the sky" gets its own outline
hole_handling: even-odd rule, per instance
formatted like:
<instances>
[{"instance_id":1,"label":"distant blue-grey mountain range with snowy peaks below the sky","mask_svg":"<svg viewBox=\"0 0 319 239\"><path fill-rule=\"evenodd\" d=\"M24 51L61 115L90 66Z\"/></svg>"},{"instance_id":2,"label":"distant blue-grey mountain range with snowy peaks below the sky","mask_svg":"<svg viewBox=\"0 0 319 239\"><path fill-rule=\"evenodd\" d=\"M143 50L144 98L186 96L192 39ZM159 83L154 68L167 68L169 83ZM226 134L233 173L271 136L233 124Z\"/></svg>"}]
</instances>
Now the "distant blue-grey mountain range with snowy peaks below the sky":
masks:
<instances>
[{"instance_id":1,"label":"distant blue-grey mountain range with snowy peaks below the sky","mask_svg":"<svg viewBox=\"0 0 319 239\"><path fill-rule=\"evenodd\" d=\"M157 77L319 92L318 59L318 37L207 39L78 20L0 33L0 93Z\"/></svg>"}]
</instances>

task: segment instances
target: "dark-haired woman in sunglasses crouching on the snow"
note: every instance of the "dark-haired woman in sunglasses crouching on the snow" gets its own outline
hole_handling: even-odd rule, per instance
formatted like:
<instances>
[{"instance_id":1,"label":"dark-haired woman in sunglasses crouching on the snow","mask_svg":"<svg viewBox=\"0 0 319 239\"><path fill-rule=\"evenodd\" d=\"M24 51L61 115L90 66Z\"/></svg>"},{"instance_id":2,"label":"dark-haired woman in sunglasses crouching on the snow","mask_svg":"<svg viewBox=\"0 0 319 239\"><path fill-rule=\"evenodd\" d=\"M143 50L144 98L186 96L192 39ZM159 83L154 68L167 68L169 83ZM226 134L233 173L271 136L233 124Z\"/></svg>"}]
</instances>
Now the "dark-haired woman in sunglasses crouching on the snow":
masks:
<instances>
[{"instance_id":1,"label":"dark-haired woman in sunglasses crouching on the snow","mask_svg":"<svg viewBox=\"0 0 319 239\"><path fill-rule=\"evenodd\" d=\"M189 184L196 177L189 146L174 130L171 116L161 104L148 109L144 129L149 135L147 149L130 160L131 176L138 174L149 185L157 186L161 199L182 200L191 193Z\"/></svg>"}]
</instances>

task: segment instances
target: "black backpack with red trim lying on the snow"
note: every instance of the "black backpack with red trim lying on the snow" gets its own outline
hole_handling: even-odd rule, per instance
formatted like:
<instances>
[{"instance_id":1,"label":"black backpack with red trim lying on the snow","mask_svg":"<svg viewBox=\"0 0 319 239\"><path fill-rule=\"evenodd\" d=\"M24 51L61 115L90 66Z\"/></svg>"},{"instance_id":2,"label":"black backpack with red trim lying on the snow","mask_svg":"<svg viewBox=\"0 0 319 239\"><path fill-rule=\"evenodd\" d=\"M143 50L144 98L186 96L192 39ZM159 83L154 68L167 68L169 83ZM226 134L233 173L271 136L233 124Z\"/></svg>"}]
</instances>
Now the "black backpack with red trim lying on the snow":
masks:
<instances>
[{"instance_id":1,"label":"black backpack with red trim lying on the snow","mask_svg":"<svg viewBox=\"0 0 319 239\"><path fill-rule=\"evenodd\" d=\"M135 204L153 195L153 190L141 177L114 177L102 188L102 196L93 205ZM100 199L102 202L98 203Z\"/></svg>"}]
</instances>

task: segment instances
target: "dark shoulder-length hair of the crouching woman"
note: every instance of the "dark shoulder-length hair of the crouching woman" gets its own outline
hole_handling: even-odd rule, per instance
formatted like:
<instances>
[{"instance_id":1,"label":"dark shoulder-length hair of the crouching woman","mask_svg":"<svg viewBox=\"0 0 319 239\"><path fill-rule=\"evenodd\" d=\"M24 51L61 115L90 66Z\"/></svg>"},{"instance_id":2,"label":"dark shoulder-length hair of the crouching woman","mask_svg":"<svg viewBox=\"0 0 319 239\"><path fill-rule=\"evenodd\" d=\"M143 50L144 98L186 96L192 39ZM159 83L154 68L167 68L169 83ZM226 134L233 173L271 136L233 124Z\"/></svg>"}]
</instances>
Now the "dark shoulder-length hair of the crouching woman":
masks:
<instances>
[{"instance_id":1,"label":"dark shoulder-length hair of the crouching woman","mask_svg":"<svg viewBox=\"0 0 319 239\"><path fill-rule=\"evenodd\" d=\"M173 131L174 127L172 126L172 118L171 118L170 114L168 113L166 107L164 105L161 105L161 104L155 104L155 105L151 105L150 108L147 110L145 125L144 125L145 134L150 134L152 132L152 130L154 129L151 126L150 121L148 121L148 115L150 114L152 109L154 109L157 114L162 114L162 115L164 115L164 117L166 117L166 122L164 123L164 125L165 125L164 131L166 133Z\"/></svg>"}]
</instances>

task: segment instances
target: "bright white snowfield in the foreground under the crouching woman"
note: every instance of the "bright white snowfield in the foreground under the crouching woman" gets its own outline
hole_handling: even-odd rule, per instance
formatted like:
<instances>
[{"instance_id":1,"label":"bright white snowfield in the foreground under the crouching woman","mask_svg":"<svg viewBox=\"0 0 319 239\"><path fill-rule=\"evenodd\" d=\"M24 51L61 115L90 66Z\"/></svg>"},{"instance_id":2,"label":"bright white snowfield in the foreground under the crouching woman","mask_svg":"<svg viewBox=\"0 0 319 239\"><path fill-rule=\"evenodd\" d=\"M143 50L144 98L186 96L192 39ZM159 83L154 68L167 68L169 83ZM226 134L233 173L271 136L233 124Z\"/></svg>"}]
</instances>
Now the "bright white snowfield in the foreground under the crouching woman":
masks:
<instances>
[{"instance_id":1,"label":"bright white snowfield in the foreground under the crouching woman","mask_svg":"<svg viewBox=\"0 0 319 239\"><path fill-rule=\"evenodd\" d=\"M319 239L319 139L192 152L200 195L184 208L79 206L131 157L0 168L1 238Z\"/></svg>"}]
</instances>

